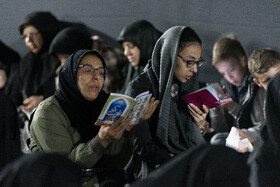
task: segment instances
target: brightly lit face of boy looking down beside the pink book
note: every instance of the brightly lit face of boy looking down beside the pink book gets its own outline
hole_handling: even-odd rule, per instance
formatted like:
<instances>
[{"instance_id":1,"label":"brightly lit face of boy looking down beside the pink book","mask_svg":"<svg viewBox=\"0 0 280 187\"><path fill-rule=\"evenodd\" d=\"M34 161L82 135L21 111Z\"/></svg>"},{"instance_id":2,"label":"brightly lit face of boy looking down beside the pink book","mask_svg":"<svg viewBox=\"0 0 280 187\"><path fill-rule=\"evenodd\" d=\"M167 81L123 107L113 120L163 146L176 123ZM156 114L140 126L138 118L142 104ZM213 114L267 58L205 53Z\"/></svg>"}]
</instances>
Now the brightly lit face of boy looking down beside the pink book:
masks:
<instances>
[{"instance_id":1,"label":"brightly lit face of boy looking down beside the pink book","mask_svg":"<svg viewBox=\"0 0 280 187\"><path fill-rule=\"evenodd\" d=\"M247 71L247 58L229 58L218 62L215 68L224 78L234 86L241 86L245 73Z\"/></svg>"}]
</instances>

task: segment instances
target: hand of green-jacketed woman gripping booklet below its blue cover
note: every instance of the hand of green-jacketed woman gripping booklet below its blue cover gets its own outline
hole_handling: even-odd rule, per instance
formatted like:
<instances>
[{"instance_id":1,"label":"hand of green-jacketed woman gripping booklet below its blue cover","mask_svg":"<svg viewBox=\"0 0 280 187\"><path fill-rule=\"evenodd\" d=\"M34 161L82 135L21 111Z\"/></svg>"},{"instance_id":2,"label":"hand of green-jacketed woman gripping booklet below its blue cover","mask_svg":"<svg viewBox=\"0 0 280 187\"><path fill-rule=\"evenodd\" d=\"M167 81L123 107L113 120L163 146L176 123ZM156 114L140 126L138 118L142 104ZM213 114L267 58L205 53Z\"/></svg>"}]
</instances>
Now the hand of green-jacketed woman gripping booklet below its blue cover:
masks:
<instances>
[{"instance_id":1,"label":"hand of green-jacketed woman gripping booklet below its blue cover","mask_svg":"<svg viewBox=\"0 0 280 187\"><path fill-rule=\"evenodd\" d=\"M120 117L110 126L101 126L98 132L101 144L106 148L111 142L119 140L129 124L130 119Z\"/></svg>"}]
</instances>

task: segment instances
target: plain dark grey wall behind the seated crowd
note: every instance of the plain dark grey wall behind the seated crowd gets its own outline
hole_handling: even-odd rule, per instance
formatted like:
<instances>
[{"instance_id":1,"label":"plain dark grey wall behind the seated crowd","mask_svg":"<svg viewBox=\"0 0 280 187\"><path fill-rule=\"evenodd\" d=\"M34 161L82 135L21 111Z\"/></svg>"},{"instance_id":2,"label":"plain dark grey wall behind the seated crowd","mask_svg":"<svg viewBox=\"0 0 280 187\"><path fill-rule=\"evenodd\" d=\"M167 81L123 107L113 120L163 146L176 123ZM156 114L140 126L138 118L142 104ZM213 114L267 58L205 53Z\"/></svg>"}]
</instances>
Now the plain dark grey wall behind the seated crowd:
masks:
<instances>
[{"instance_id":1,"label":"plain dark grey wall behind the seated crowd","mask_svg":"<svg viewBox=\"0 0 280 187\"><path fill-rule=\"evenodd\" d=\"M18 27L32 11L50 11L59 20L82 22L116 39L121 29L146 19L159 30L193 27L203 42L202 81L220 78L211 67L212 47L232 33L249 56L254 49L279 49L280 1L263 0L0 0L0 40L23 55Z\"/></svg>"}]
</instances>

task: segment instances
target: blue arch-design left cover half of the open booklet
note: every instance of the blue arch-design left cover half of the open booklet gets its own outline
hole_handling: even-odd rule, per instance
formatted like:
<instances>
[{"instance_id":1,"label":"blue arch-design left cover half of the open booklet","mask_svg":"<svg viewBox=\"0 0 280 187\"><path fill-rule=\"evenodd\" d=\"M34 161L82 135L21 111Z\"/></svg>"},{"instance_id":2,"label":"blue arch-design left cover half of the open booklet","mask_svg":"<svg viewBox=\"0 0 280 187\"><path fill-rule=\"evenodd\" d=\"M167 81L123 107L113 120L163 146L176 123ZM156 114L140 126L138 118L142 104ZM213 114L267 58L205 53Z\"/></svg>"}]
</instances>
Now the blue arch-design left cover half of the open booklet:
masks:
<instances>
[{"instance_id":1,"label":"blue arch-design left cover half of the open booklet","mask_svg":"<svg viewBox=\"0 0 280 187\"><path fill-rule=\"evenodd\" d=\"M121 116L127 117L134 103L130 96L111 93L95 125L111 125Z\"/></svg>"}]
</instances>

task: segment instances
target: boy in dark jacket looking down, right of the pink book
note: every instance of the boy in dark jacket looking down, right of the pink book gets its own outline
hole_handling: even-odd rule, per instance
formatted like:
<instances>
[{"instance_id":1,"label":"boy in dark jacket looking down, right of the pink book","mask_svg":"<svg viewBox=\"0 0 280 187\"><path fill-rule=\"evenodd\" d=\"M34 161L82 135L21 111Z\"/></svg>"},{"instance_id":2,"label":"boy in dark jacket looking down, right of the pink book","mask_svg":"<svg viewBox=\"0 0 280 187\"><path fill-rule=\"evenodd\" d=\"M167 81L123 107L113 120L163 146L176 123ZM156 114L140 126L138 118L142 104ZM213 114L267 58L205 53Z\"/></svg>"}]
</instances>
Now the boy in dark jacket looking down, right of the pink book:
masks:
<instances>
[{"instance_id":1,"label":"boy in dark jacket looking down, right of the pink book","mask_svg":"<svg viewBox=\"0 0 280 187\"><path fill-rule=\"evenodd\" d=\"M240 139L248 138L254 144L265 124L265 90L254 83L241 43L230 37L219 39L213 47L212 65L224 76L221 83L233 102L210 110L211 125L216 132L211 143L225 144L230 128L235 126ZM219 132L226 126L225 132Z\"/></svg>"}]
</instances>

